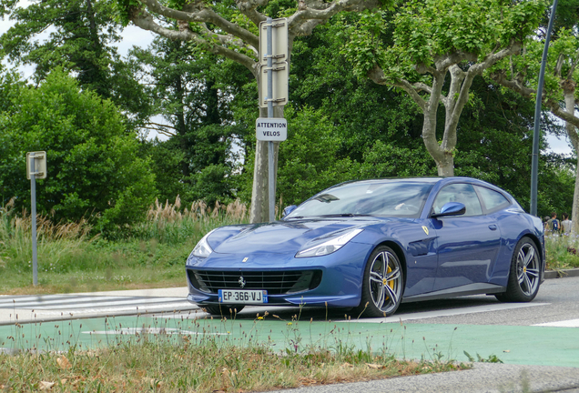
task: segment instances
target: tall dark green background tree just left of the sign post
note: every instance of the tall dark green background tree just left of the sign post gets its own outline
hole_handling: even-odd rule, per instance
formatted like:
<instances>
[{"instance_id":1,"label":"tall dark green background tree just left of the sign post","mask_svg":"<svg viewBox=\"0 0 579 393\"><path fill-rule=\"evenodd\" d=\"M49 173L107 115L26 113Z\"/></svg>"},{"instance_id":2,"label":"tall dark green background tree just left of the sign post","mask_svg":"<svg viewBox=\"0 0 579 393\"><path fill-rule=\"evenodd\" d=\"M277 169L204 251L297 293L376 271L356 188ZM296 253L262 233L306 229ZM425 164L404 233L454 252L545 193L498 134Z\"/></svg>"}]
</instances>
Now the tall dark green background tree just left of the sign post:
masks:
<instances>
[{"instance_id":1,"label":"tall dark green background tree just left of the sign post","mask_svg":"<svg viewBox=\"0 0 579 393\"><path fill-rule=\"evenodd\" d=\"M243 95L240 86L248 82L247 73L235 62L199 53L187 43L163 36L157 36L147 49L136 47L129 54L153 102L151 118L144 127L170 136L166 142L150 146L151 153L162 158L155 160L154 166L173 174L169 179L157 176L158 181L174 183L159 187L162 200L177 195L184 203L205 199L212 204L229 199L233 192L229 177L236 165L231 156L232 140L242 141L245 133L233 121L230 106ZM173 163L177 170L167 167L166 159L174 161L174 157L161 150L178 157ZM205 177L209 172L211 182ZM171 192L177 193L167 194Z\"/></svg>"}]
</instances>

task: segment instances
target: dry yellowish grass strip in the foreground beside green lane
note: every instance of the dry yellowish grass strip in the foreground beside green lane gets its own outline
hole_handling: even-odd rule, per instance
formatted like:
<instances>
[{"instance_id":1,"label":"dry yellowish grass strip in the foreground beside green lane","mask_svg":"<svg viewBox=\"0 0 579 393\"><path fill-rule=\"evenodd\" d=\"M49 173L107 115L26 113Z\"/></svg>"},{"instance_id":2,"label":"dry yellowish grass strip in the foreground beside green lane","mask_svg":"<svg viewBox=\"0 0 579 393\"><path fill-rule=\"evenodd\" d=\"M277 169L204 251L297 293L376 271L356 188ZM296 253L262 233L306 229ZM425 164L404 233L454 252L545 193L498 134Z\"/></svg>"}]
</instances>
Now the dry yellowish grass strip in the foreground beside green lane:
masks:
<instances>
[{"instance_id":1,"label":"dry yellowish grass strip in the foreground beside green lane","mask_svg":"<svg viewBox=\"0 0 579 393\"><path fill-rule=\"evenodd\" d=\"M245 392L465 368L358 351L281 356L266 346L218 348L145 341L66 354L0 355L0 390Z\"/></svg>"}]
</instances>

